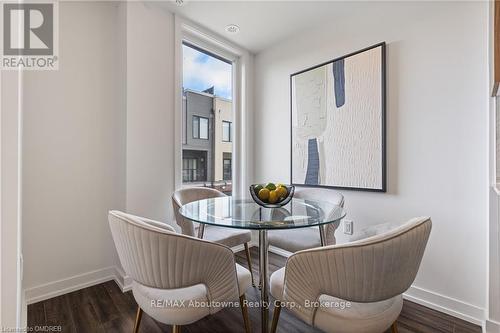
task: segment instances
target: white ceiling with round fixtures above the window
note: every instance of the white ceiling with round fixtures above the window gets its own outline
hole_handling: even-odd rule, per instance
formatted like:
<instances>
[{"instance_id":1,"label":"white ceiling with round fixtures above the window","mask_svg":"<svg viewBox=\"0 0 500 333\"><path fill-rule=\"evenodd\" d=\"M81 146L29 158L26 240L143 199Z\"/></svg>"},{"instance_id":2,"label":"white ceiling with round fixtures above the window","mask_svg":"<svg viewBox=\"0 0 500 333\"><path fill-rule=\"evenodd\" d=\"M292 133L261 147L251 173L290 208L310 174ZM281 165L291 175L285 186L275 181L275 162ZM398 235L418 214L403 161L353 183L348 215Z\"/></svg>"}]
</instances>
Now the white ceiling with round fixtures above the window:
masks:
<instances>
[{"instance_id":1,"label":"white ceiling with round fixtures above the window","mask_svg":"<svg viewBox=\"0 0 500 333\"><path fill-rule=\"evenodd\" d=\"M304 29L346 17L357 4L335 1L193 1L163 5L171 12L220 34L247 50L258 53ZM228 24L240 27L228 34Z\"/></svg>"}]
</instances>

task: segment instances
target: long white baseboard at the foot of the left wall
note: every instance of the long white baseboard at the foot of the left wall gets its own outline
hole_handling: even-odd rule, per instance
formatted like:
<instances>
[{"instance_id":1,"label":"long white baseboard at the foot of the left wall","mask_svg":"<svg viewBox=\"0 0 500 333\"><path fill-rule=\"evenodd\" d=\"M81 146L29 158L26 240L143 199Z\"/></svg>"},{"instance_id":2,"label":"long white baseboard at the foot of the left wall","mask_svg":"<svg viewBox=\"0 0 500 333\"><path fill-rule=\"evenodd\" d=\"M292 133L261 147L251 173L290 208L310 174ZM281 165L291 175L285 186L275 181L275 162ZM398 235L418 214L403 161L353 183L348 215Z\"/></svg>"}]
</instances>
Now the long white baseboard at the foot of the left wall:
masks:
<instances>
[{"instance_id":1,"label":"long white baseboard at the foot of the left wall","mask_svg":"<svg viewBox=\"0 0 500 333\"><path fill-rule=\"evenodd\" d=\"M116 267L111 266L74 275L66 279L45 283L36 287L25 289L26 303L37 303L109 280L116 280L117 277Z\"/></svg>"}]
</instances>

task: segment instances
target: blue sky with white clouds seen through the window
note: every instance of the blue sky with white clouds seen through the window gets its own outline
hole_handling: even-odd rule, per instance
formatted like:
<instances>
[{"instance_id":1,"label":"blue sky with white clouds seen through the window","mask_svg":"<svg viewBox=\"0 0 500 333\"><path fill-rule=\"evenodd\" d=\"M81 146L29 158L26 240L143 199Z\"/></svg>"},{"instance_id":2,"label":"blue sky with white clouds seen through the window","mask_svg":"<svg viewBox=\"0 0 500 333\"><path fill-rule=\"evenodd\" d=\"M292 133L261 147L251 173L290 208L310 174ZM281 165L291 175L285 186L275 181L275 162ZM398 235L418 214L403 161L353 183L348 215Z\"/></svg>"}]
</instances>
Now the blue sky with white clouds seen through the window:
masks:
<instances>
[{"instance_id":1,"label":"blue sky with white clouds seen through the window","mask_svg":"<svg viewBox=\"0 0 500 333\"><path fill-rule=\"evenodd\" d=\"M182 45L184 88L203 91L215 87L215 95L232 99L231 65Z\"/></svg>"}]
</instances>

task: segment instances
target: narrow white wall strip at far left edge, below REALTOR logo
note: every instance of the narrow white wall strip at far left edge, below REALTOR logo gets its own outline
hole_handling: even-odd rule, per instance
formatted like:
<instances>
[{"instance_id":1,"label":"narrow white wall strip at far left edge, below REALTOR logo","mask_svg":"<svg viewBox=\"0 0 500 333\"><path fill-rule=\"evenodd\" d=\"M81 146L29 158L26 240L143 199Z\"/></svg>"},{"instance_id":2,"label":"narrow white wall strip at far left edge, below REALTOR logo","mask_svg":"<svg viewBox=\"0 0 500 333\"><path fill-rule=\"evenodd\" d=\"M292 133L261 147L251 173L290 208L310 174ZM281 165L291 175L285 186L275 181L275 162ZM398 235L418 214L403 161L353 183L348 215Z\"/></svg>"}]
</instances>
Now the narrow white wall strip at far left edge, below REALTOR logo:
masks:
<instances>
[{"instance_id":1,"label":"narrow white wall strip at far left edge, below REALTOR logo","mask_svg":"<svg viewBox=\"0 0 500 333\"><path fill-rule=\"evenodd\" d=\"M0 327L22 325L20 75L0 73Z\"/></svg>"}]
</instances>

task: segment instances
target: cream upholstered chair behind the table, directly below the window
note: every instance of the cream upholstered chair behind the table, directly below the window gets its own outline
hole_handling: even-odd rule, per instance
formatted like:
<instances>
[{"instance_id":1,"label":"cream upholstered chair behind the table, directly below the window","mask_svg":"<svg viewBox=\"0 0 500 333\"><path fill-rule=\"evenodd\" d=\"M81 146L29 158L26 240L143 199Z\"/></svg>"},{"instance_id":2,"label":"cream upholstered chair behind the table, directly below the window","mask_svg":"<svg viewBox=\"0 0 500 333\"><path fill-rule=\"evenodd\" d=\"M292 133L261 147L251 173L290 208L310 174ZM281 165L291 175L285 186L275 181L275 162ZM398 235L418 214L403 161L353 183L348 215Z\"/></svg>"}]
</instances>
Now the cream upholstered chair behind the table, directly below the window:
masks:
<instances>
[{"instance_id":1,"label":"cream upholstered chair behind the table, directly below the window","mask_svg":"<svg viewBox=\"0 0 500 333\"><path fill-rule=\"evenodd\" d=\"M200 226L199 223L185 219L179 209L190 202L209 198L225 197L226 195L208 187L189 187L180 189L172 195L172 205L175 212L175 220L181 227L182 233L188 236L197 236L211 242L220 243L229 247L234 247L243 244L245 246L245 254L248 262L248 269L252 276L252 285L255 286L252 272L252 262L250 259L250 250L248 243L252 238L252 232L249 230L238 230L231 228L221 228L211 225Z\"/></svg>"}]
</instances>

